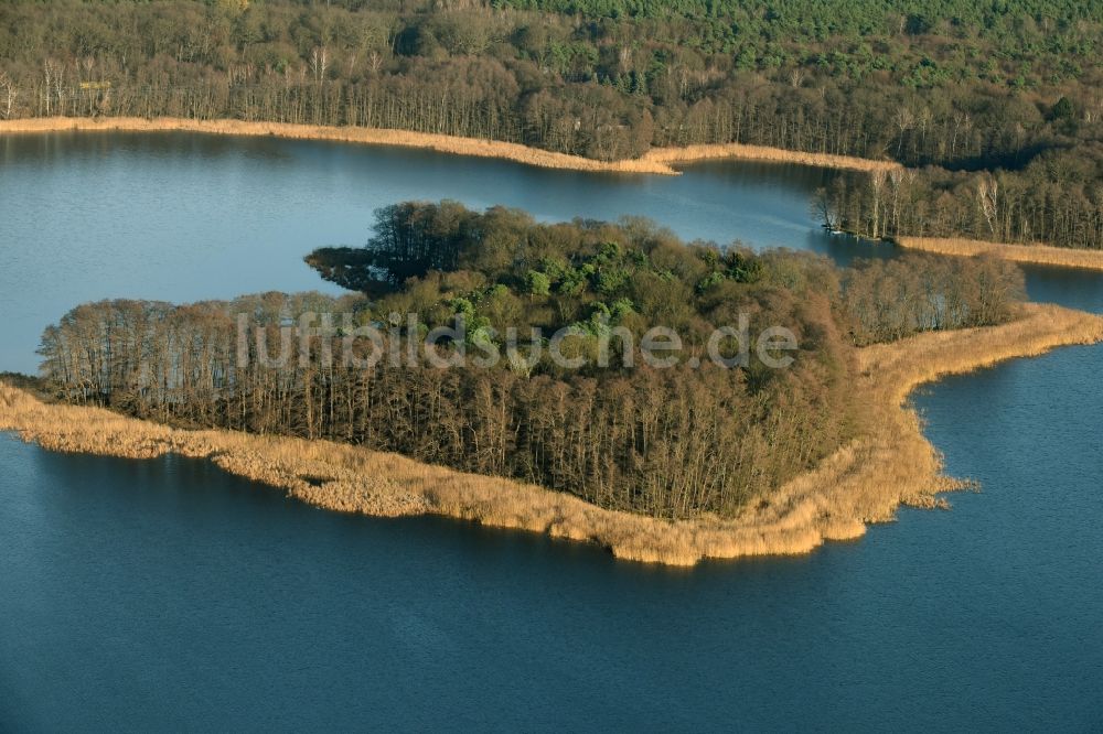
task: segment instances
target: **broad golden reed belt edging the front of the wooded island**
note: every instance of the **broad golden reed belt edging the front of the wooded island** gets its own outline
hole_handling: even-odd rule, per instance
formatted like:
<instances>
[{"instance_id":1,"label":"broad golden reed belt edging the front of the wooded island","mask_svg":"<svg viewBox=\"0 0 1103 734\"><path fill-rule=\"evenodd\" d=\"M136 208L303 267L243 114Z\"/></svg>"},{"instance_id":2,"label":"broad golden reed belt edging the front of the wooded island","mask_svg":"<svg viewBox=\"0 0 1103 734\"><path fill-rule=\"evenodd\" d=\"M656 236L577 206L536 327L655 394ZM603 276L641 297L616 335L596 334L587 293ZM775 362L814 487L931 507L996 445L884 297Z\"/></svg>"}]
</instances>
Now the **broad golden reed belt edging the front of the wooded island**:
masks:
<instances>
[{"instance_id":1,"label":"broad golden reed belt edging the front of the wooded island","mask_svg":"<svg viewBox=\"0 0 1103 734\"><path fill-rule=\"evenodd\" d=\"M866 398L864 438L735 519L657 520L358 446L173 429L101 408L49 404L3 381L0 431L14 431L50 451L208 458L232 474L335 511L438 515L593 542L619 559L689 566L705 559L807 553L827 540L863 536L867 523L891 520L900 505L944 506L939 493L967 485L942 474L939 452L907 404L910 392L944 375L1100 341L1103 316L1026 304L1018 320L1002 326L932 332L858 349L855 381Z\"/></svg>"}]
</instances>

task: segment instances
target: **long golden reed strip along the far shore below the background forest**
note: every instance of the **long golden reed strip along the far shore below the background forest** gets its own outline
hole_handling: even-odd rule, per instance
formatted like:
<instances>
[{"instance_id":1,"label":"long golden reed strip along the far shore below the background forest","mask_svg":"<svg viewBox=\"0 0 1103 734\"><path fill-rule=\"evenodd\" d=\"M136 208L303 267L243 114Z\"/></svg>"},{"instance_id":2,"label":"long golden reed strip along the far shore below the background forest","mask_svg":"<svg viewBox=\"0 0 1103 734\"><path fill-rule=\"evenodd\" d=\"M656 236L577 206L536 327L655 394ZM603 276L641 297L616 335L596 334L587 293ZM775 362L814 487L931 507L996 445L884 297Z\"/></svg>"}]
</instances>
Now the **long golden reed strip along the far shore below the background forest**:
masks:
<instances>
[{"instance_id":1,"label":"long golden reed strip along the far shore below the background forest","mask_svg":"<svg viewBox=\"0 0 1103 734\"><path fill-rule=\"evenodd\" d=\"M638 159L598 161L582 158L581 155L570 155L568 153L556 153L539 148L531 148L521 143L387 128L333 127L296 125L290 122L249 122L231 119L195 120L174 117L156 117L152 119L140 117L32 117L0 120L0 136L64 132L69 130L120 132L183 131L225 136L276 137L291 140L328 140L368 145L395 145L456 155L493 158L544 169L591 173L681 175L681 171L674 168L675 163L688 164L717 159L794 163L854 171L902 168L895 161L874 161L829 153L804 153L782 148L745 145L742 143L653 148Z\"/></svg>"}]
</instances>

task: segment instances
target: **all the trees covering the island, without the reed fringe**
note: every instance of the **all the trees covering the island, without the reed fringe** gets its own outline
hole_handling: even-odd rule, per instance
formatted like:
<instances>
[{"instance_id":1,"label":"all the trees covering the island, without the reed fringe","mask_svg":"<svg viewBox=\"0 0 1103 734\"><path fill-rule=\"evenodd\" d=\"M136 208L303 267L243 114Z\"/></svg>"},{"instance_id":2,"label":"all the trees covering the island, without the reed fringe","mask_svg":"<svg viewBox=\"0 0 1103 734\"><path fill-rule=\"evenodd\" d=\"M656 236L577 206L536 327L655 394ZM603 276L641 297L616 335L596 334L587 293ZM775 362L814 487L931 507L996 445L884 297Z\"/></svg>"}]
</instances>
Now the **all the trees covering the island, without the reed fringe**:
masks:
<instances>
[{"instance_id":1,"label":"all the trees covering the island, without the reed fringe","mask_svg":"<svg viewBox=\"0 0 1103 734\"><path fill-rule=\"evenodd\" d=\"M43 335L45 384L72 402L351 442L602 507L731 516L864 430L855 345L999 323L1022 298L1021 274L998 261L839 271L807 253L686 245L640 219L548 225L449 202L381 209L366 246L308 262L360 292L82 305ZM299 330L303 314L334 315ZM654 326L682 348L631 361ZM745 333L773 326L793 335L792 361L740 356ZM563 328L558 354L590 358L553 358L547 336ZM442 366L457 355L472 361Z\"/></svg>"}]
</instances>

